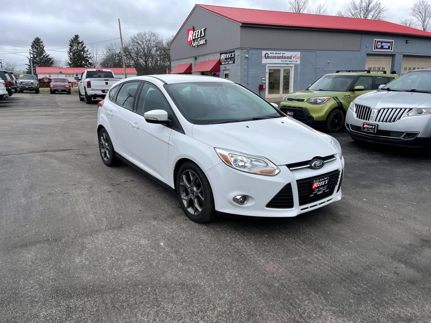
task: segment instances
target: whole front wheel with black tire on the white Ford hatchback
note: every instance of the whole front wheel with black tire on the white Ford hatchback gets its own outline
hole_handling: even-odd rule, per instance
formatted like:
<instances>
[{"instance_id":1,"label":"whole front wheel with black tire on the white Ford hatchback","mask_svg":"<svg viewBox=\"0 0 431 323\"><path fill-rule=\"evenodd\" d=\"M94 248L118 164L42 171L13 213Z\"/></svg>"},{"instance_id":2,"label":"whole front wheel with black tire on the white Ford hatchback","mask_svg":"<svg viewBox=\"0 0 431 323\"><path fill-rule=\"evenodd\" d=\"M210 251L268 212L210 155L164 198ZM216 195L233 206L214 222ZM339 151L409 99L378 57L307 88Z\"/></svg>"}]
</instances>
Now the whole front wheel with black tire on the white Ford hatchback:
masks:
<instances>
[{"instance_id":1,"label":"whole front wheel with black tire on the white Ford hatchback","mask_svg":"<svg viewBox=\"0 0 431 323\"><path fill-rule=\"evenodd\" d=\"M214 197L208 178L194 162L185 162L176 178L177 197L187 217L197 223L215 217Z\"/></svg>"}]
</instances>

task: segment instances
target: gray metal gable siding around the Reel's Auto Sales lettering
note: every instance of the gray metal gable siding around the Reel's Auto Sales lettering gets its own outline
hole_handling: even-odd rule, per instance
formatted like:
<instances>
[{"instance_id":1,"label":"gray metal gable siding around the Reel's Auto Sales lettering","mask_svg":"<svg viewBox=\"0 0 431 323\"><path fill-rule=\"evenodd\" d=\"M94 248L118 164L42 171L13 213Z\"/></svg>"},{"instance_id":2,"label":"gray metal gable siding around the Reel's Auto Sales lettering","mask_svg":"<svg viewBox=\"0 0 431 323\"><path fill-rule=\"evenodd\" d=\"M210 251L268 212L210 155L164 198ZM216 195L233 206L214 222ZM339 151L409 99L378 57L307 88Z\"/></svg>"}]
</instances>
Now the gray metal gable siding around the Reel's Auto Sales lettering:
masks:
<instances>
[{"instance_id":1,"label":"gray metal gable siding around the Reel's Auto Sales lettering","mask_svg":"<svg viewBox=\"0 0 431 323\"><path fill-rule=\"evenodd\" d=\"M187 29L206 28L206 44L191 47L187 43ZM196 7L171 44L171 60L223 52L238 48L240 25L212 12Z\"/></svg>"}]
</instances>

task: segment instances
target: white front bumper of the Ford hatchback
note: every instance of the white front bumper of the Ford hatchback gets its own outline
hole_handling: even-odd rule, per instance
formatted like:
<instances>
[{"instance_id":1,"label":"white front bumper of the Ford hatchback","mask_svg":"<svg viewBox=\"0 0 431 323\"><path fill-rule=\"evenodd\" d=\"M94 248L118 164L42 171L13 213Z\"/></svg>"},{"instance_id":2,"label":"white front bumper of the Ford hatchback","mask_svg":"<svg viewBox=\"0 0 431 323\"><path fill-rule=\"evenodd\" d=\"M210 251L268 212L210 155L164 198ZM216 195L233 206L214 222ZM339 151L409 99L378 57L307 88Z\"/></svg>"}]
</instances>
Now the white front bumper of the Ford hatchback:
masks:
<instances>
[{"instance_id":1,"label":"white front bumper of the Ford hatchback","mask_svg":"<svg viewBox=\"0 0 431 323\"><path fill-rule=\"evenodd\" d=\"M247 216L294 217L341 199L341 190L338 189L338 186L340 184L341 172L344 171L344 159L340 160L337 158L318 170L301 168L290 171L285 165L278 167L281 171L276 176L248 174L230 168L223 162L210 168L205 174L212 187L215 209L220 212ZM300 203L297 180L319 177L322 174L333 171L340 171L340 175L336 179L337 185L330 196L325 196L308 204ZM292 187L293 207L268 208L268 203L288 183ZM237 195L247 195L247 203L245 205L237 205L233 202L233 197Z\"/></svg>"}]
</instances>

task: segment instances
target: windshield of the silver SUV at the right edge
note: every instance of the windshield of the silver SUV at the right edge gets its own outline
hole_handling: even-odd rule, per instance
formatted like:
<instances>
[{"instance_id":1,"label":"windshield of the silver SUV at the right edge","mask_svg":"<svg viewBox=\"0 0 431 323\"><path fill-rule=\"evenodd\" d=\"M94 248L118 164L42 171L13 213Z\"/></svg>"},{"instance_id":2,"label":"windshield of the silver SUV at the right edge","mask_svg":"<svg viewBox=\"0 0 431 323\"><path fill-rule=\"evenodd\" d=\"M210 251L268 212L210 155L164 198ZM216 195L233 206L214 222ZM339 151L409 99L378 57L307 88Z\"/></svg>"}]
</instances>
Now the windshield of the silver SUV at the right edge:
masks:
<instances>
[{"instance_id":1,"label":"windshield of the silver SUV at the right edge","mask_svg":"<svg viewBox=\"0 0 431 323\"><path fill-rule=\"evenodd\" d=\"M431 71L411 71L390 81L383 89L431 93Z\"/></svg>"}]
</instances>

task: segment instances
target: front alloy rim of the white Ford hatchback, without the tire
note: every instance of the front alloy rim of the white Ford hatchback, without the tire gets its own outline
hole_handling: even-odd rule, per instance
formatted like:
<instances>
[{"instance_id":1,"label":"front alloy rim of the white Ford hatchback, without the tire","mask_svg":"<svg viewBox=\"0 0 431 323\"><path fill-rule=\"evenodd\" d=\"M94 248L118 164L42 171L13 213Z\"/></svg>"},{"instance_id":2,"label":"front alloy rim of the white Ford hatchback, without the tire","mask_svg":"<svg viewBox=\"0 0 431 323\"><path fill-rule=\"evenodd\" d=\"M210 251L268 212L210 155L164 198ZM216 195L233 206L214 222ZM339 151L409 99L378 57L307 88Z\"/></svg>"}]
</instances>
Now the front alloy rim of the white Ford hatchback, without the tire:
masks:
<instances>
[{"instance_id":1,"label":"front alloy rim of the white Ford hatchback, without the tire","mask_svg":"<svg viewBox=\"0 0 431 323\"><path fill-rule=\"evenodd\" d=\"M193 215L202 212L205 202L202 183L194 171L186 170L180 179L181 200L185 208Z\"/></svg>"}]
</instances>

